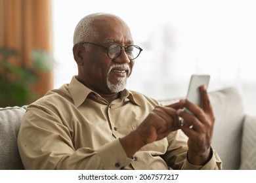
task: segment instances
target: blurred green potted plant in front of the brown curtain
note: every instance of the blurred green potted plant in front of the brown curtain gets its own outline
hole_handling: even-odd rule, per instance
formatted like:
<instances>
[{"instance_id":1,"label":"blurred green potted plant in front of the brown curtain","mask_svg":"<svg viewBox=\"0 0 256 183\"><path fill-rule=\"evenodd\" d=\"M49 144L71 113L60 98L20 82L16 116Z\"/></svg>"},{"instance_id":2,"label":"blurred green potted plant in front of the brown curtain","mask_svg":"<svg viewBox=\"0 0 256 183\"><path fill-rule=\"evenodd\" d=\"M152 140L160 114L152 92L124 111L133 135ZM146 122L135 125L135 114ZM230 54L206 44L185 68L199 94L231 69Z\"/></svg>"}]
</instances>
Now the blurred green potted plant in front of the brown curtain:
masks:
<instances>
[{"instance_id":1,"label":"blurred green potted plant in front of the brown curtain","mask_svg":"<svg viewBox=\"0 0 256 183\"><path fill-rule=\"evenodd\" d=\"M54 59L43 50L32 50L32 65L15 65L10 58L18 56L11 48L0 48L0 107L28 105L37 95L32 86L39 71L51 71Z\"/></svg>"}]
</instances>

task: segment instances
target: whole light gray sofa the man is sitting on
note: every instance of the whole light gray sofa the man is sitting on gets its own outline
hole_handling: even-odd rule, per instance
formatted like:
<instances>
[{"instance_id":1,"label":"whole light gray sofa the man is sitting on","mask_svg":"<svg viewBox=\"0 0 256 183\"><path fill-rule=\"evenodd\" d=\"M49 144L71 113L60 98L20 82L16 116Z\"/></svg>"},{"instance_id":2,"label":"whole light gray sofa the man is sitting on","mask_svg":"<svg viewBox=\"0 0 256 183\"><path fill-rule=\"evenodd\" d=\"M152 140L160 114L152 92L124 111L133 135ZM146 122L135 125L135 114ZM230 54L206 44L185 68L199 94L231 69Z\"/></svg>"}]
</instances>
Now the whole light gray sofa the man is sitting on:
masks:
<instances>
[{"instance_id":1,"label":"whole light gray sofa the man is sitting on","mask_svg":"<svg viewBox=\"0 0 256 183\"><path fill-rule=\"evenodd\" d=\"M244 113L236 88L209 92L209 96L216 118L212 146L223 160L223 169L256 169L256 117ZM26 106L0 108L0 169L24 169L16 139L25 112Z\"/></svg>"}]
</instances>

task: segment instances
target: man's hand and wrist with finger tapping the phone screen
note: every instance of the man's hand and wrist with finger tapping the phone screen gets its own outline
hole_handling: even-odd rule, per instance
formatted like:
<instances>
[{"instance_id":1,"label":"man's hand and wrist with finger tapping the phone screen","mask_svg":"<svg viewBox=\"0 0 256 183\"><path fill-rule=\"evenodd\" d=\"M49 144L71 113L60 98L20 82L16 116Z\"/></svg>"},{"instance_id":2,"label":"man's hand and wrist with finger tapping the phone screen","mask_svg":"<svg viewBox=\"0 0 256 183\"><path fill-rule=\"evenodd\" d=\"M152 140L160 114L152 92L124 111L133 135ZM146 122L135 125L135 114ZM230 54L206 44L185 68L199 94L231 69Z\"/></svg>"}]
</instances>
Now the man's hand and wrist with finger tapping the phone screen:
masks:
<instances>
[{"instance_id":1,"label":"man's hand and wrist with finger tapping the phone screen","mask_svg":"<svg viewBox=\"0 0 256 183\"><path fill-rule=\"evenodd\" d=\"M166 107L156 107L145 120L126 137L120 139L127 157L131 158L142 146L159 141L181 127L177 109L182 103L174 103Z\"/></svg>"}]
</instances>

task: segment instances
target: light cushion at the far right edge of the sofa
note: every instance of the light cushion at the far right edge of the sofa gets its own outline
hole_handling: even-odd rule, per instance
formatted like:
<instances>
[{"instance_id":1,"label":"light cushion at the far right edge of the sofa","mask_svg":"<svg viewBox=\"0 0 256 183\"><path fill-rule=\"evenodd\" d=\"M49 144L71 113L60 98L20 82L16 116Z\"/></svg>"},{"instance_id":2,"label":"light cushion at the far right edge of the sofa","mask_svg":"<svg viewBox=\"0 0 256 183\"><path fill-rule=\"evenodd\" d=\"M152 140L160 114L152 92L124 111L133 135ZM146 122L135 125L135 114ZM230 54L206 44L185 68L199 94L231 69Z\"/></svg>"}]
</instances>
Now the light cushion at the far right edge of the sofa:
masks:
<instances>
[{"instance_id":1,"label":"light cushion at the far right edge of the sofa","mask_svg":"<svg viewBox=\"0 0 256 183\"><path fill-rule=\"evenodd\" d=\"M256 170L256 116L245 116L240 169Z\"/></svg>"}]
</instances>

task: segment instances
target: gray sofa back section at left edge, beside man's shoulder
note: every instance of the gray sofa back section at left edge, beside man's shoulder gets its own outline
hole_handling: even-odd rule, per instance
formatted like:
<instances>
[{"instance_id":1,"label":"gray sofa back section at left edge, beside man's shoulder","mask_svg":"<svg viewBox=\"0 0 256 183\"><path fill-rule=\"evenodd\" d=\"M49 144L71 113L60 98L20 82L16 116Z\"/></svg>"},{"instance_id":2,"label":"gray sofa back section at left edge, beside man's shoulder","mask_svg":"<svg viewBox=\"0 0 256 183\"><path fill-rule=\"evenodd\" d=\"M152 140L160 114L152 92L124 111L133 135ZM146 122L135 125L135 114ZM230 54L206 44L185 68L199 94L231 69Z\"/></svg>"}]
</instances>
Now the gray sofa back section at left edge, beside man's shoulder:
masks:
<instances>
[{"instance_id":1,"label":"gray sofa back section at left edge, beside man's shoulder","mask_svg":"<svg viewBox=\"0 0 256 183\"><path fill-rule=\"evenodd\" d=\"M0 108L0 169L24 169L18 153L17 137L24 107Z\"/></svg>"}]
</instances>

